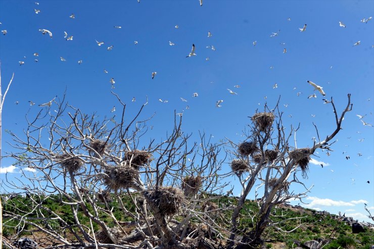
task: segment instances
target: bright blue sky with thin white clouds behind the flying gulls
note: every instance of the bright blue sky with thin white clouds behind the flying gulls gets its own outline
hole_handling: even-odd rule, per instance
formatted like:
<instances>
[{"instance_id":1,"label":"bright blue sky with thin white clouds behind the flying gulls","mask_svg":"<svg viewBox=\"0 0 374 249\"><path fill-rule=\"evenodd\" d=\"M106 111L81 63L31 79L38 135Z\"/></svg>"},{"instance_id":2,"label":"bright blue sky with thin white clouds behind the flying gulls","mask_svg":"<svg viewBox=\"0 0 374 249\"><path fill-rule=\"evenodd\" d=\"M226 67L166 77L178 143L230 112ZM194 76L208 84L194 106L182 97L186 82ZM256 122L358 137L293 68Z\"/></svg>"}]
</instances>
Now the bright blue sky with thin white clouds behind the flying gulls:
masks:
<instances>
[{"instance_id":1,"label":"bright blue sky with thin white clouds behind the flying gulls","mask_svg":"<svg viewBox=\"0 0 374 249\"><path fill-rule=\"evenodd\" d=\"M240 142L248 116L265 101L274 106L280 96L286 127L300 122L298 146L306 147L312 146L311 138L316 136L312 122L321 137L335 129L332 107L313 92L306 82L310 80L323 87L326 98L334 97L338 110L343 110L351 93L353 111L346 115L331 156L318 151L319 158L314 157L329 166L310 165L305 181L315 186L308 207L346 212L362 220L365 202L374 212L374 129L363 126L356 116L366 115L362 120L374 124L374 20L360 22L374 15L374 2L204 0L202 7L198 0L38 3L0 2L0 29L8 31L0 34L3 92L15 73L4 105L4 130L21 133L25 114L36 113L39 104L62 96L65 89L69 104L85 113L110 116L113 106L116 112L119 108L110 92L114 90L128 104L129 115L148 96L143 117L156 113L149 122L154 127L150 137L165 137L172 128L174 110L184 110L183 130L192 132L193 138L200 130L215 141L227 137ZM35 14L34 9L41 12ZM69 18L72 13L74 19ZM306 31L300 32L304 24ZM53 38L38 29L52 31ZM73 40L65 40L64 31ZM272 32L278 35L270 37ZM95 40L105 43L98 46ZM175 45L169 45L169 40ZM361 44L353 46L357 41ZM185 58L193 43L197 56ZM107 51L111 45L113 49ZM19 61L24 64L20 66ZM157 72L153 80L152 72ZM114 89L109 82L112 77ZM194 92L199 96L192 97ZM317 97L308 99L313 93ZM216 108L220 99L222 107ZM31 107L28 101L36 105ZM3 132L4 153L12 151L10 141ZM3 159L2 167L12 163Z\"/></svg>"}]
</instances>

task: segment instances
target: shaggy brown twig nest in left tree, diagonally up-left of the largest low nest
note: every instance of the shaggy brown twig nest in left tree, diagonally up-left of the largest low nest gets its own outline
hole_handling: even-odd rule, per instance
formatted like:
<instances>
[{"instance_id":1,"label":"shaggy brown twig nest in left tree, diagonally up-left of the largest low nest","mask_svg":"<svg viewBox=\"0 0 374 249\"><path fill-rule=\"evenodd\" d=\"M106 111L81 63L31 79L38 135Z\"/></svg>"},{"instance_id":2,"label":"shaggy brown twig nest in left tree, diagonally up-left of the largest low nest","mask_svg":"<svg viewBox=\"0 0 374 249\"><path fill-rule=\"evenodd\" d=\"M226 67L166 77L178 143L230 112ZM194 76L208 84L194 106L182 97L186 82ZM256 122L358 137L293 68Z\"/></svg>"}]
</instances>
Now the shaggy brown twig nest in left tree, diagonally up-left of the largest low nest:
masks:
<instances>
[{"instance_id":1,"label":"shaggy brown twig nest in left tree, diagonally up-left of the largest low nest","mask_svg":"<svg viewBox=\"0 0 374 249\"><path fill-rule=\"evenodd\" d=\"M138 171L130 166L106 167L104 184L112 190L130 187Z\"/></svg>"}]
</instances>

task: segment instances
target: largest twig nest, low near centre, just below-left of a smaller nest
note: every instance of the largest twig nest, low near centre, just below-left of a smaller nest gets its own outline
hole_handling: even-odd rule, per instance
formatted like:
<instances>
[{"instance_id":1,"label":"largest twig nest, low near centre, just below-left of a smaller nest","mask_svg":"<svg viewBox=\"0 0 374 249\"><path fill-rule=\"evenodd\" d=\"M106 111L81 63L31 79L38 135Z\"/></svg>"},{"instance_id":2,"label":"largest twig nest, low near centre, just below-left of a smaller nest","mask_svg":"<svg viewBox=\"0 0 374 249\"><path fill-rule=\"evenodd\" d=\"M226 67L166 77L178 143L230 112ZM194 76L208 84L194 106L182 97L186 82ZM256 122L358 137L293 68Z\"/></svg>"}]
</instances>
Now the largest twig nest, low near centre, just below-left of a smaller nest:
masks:
<instances>
[{"instance_id":1,"label":"largest twig nest, low near centre, just below-left of a smaller nest","mask_svg":"<svg viewBox=\"0 0 374 249\"><path fill-rule=\"evenodd\" d=\"M184 200L182 190L170 186L150 190L147 197L152 209L164 215L176 214Z\"/></svg>"}]
</instances>

